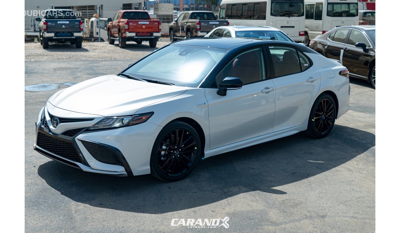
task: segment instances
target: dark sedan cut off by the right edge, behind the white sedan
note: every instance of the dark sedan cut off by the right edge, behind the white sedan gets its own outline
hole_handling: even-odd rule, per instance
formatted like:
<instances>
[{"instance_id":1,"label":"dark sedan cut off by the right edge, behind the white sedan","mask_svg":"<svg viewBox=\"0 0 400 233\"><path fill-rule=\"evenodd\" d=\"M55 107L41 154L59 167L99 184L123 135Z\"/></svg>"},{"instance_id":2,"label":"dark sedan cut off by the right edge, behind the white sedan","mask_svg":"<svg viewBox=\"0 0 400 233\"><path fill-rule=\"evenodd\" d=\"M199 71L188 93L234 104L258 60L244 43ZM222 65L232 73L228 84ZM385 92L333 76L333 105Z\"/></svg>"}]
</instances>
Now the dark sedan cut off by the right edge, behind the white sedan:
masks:
<instances>
[{"instance_id":1,"label":"dark sedan cut off by the right edge, behind the white sedan","mask_svg":"<svg viewBox=\"0 0 400 233\"><path fill-rule=\"evenodd\" d=\"M310 41L310 48L339 60L350 76L368 80L375 88L375 26L343 26Z\"/></svg>"}]
</instances>

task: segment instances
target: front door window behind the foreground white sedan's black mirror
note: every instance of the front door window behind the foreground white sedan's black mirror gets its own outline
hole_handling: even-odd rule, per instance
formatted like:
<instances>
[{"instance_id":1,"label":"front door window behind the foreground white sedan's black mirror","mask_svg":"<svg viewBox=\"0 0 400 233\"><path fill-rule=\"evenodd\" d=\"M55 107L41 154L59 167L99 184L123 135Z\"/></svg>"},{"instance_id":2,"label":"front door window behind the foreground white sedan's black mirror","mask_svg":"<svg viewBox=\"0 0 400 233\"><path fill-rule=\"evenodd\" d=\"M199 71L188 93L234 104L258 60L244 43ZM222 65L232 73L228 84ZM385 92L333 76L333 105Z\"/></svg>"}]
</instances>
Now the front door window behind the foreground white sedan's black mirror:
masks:
<instances>
[{"instance_id":1,"label":"front door window behind the foreground white sedan's black mirror","mask_svg":"<svg viewBox=\"0 0 400 233\"><path fill-rule=\"evenodd\" d=\"M216 83L220 84L225 77L240 78L243 84L264 80L265 68L262 49L252 49L236 56L216 76Z\"/></svg>"}]
</instances>

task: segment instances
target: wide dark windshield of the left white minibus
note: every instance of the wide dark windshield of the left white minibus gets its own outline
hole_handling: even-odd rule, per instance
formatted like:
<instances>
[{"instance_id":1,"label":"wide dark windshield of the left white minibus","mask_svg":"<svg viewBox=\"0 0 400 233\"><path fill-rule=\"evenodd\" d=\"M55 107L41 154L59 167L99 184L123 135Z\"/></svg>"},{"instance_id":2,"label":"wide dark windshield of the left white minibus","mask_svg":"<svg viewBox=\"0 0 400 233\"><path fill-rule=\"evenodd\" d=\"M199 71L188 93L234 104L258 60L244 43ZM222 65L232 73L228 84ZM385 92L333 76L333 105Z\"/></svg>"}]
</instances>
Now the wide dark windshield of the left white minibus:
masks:
<instances>
[{"instance_id":1,"label":"wide dark windshield of the left white minibus","mask_svg":"<svg viewBox=\"0 0 400 233\"><path fill-rule=\"evenodd\" d=\"M271 16L278 16L278 17L304 16L304 0L294 0L294 1L272 0Z\"/></svg>"}]
</instances>

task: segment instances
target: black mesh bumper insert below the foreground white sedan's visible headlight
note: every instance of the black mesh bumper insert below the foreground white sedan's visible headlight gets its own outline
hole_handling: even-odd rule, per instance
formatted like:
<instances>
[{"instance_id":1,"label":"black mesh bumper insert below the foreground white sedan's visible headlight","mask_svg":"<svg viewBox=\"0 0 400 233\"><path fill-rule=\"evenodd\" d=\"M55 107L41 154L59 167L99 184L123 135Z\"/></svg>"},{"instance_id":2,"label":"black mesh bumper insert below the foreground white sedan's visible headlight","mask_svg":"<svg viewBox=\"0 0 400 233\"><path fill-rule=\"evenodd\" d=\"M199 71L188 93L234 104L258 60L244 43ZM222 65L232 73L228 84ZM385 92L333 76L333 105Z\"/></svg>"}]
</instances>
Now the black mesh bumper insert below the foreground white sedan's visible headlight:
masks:
<instances>
[{"instance_id":1,"label":"black mesh bumper insert below the foreground white sedan's visible headlight","mask_svg":"<svg viewBox=\"0 0 400 233\"><path fill-rule=\"evenodd\" d=\"M107 164L122 165L118 154L106 146L99 145L97 143L91 143L88 141L81 141L85 146L86 150L93 156L94 159Z\"/></svg>"}]
</instances>

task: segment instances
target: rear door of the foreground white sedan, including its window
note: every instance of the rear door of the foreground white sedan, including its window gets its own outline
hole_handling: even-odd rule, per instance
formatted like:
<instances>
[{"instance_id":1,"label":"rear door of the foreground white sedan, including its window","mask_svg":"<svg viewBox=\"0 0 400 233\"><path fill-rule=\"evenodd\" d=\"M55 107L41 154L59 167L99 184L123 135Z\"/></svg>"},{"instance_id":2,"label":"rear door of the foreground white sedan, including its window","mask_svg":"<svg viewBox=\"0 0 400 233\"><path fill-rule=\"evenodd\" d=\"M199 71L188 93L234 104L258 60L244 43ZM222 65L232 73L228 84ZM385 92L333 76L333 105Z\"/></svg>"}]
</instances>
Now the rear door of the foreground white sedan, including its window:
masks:
<instances>
[{"instance_id":1,"label":"rear door of the foreground white sedan, including its window","mask_svg":"<svg viewBox=\"0 0 400 233\"><path fill-rule=\"evenodd\" d=\"M274 65L276 107L274 132L306 122L312 101L320 89L321 76L311 60L294 47L269 46Z\"/></svg>"}]
</instances>

